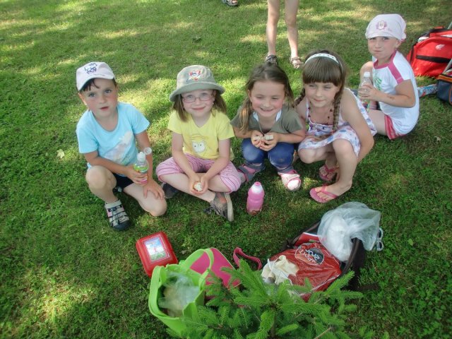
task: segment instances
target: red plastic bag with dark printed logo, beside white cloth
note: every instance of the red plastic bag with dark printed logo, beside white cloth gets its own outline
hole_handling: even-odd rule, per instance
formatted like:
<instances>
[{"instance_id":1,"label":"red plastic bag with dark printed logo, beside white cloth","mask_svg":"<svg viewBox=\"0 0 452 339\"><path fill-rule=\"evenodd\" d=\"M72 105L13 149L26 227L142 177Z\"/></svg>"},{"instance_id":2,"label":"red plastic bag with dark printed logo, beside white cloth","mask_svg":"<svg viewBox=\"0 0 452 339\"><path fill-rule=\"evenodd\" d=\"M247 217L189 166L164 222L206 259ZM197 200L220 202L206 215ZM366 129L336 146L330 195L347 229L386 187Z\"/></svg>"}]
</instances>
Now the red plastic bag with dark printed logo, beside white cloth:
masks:
<instances>
[{"instance_id":1,"label":"red plastic bag with dark printed logo, beside white cloth","mask_svg":"<svg viewBox=\"0 0 452 339\"><path fill-rule=\"evenodd\" d=\"M297 249L286 249L272 256L270 261L276 261L280 256L285 256L287 261L298 268L295 275L288 275L287 278L295 285L304 285L304 278L308 278L313 291L326 290L342 274L338 259L319 242L302 244Z\"/></svg>"}]
</instances>

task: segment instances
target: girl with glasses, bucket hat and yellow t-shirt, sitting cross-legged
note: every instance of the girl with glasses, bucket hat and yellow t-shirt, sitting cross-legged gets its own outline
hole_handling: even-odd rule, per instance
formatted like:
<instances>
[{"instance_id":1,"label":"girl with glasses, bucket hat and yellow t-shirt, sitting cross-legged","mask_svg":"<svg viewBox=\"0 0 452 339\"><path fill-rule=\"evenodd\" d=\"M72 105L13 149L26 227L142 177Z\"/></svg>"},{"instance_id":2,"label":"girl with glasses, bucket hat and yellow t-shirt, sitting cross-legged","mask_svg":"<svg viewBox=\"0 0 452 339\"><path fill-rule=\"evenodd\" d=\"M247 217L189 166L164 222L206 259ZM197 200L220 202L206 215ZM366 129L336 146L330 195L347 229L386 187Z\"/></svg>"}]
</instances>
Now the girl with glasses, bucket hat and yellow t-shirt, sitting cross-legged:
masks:
<instances>
[{"instance_id":1,"label":"girl with glasses, bucket hat and yellow t-shirt, sitting cross-legged","mask_svg":"<svg viewBox=\"0 0 452 339\"><path fill-rule=\"evenodd\" d=\"M188 66L177 74L177 87L169 95L174 108L168 122L172 157L155 172L167 198L183 191L207 201L210 210L232 221L229 194L239 189L241 180L231 162L234 131L221 97L224 92L206 66Z\"/></svg>"}]
</instances>

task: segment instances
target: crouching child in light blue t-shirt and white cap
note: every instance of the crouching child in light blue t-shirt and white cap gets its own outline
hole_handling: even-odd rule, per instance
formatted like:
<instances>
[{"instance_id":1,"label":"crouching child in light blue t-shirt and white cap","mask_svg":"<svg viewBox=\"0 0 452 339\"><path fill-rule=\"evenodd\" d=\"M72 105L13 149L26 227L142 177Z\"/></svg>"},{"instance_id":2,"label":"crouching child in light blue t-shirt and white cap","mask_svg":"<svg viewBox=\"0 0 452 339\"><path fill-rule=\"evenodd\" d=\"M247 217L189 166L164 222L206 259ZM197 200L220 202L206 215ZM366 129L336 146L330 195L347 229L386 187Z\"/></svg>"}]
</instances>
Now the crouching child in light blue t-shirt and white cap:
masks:
<instances>
[{"instance_id":1,"label":"crouching child in light blue t-shirt and white cap","mask_svg":"<svg viewBox=\"0 0 452 339\"><path fill-rule=\"evenodd\" d=\"M93 61L77 69L76 85L87 107L77 124L78 150L88 162L86 182L105 202L110 226L115 230L129 226L129 217L114 191L132 196L153 216L164 214L167 204L162 188L153 179L152 151L146 155L146 174L133 169L136 141L141 150L150 150L148 119L133 105L118 102L117 82L105 62Z\"/></svg>"}]
</instances>

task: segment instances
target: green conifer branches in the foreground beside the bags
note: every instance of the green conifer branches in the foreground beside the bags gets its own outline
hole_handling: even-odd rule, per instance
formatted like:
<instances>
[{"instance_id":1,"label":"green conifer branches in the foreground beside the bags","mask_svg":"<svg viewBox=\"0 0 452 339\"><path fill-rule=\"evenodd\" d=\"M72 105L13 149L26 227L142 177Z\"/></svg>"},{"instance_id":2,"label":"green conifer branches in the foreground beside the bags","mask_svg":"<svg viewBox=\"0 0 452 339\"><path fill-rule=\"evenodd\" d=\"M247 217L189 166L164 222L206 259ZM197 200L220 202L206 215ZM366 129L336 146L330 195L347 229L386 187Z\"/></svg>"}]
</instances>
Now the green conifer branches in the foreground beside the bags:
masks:
<instances>
[{"instance_id":1,"label":"green conifer branches in the foreground beside the bags","mask_svg":"<svg viewBox=\"0 0 452 339\"><path fill-rule=\"evenodd\" d=\"M352 308L346 300L362 297L359 292L341 290L353 277L352 271L305 302L300 295L311 291L309 280L304 287L287 281L266 284L261 271L251 270L245 261L238 270L225 270L239 285L225 287L222 280L213 278L206 289L212 299L198 306L199 320L183 319L186 331L175 338L350 338L345 320Z\"/></svg>"}]
</instances>

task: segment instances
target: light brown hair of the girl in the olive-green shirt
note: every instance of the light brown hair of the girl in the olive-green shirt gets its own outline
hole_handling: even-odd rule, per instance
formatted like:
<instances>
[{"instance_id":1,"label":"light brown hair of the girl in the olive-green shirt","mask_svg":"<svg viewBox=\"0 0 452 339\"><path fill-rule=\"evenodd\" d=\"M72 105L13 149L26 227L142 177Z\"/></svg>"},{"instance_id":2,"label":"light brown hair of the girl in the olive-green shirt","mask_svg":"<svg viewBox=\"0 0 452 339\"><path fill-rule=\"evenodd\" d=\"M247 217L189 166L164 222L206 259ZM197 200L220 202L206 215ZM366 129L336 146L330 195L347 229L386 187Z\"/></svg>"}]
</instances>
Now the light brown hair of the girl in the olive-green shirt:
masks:
<instances>
[{"instance_id":1,"label":"light brown hair of the girl in the olive-green shirt","mask_svg":"<svg viewBox=\"0 0 452 339\"><path fill-rule=\"evenodd\" d=\"M284 95L285 100L290 107L294 106L294 93L290 87L289 78L283 69L280 69L278 65L275 64L261 64L256 66L249 75L248 81L246 81L245 89L249 93L254 88L254 84L257 81L273 81L275 83L281 83L284 85ZM242 103L242 111L239 113L239 129L242 133L248 131L248 121L249 116L254 112L251 105L251 100L249 96L246 95Z\"/></svg>"}]
</instances>

